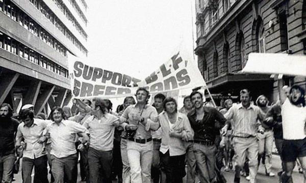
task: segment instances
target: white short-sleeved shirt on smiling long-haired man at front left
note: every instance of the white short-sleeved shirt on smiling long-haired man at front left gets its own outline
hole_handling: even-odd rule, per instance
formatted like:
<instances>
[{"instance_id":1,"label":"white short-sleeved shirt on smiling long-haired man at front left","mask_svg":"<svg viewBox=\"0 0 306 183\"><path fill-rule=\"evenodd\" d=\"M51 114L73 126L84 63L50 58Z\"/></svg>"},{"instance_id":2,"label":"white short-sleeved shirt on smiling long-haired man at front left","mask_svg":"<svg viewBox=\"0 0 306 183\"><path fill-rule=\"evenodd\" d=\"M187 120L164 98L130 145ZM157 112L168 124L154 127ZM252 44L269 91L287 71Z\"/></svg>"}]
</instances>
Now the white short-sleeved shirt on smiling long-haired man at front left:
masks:
<instances>
[{"instance_id":1,"label":"white short-sleeved shirt on smiling long-haired man at front left","mask_svg":"<svg viewBox=\"0 0 306 183\"><path fill-rule=\"evenodd\" d=\"M65 158L77 153L75 149L75 137L77 133L85 133L86 128L75 121L62 120L59 125L54 121L50 123L43 135L51 140L50 154L57 158Z\"/></svg>"}]
</instances>

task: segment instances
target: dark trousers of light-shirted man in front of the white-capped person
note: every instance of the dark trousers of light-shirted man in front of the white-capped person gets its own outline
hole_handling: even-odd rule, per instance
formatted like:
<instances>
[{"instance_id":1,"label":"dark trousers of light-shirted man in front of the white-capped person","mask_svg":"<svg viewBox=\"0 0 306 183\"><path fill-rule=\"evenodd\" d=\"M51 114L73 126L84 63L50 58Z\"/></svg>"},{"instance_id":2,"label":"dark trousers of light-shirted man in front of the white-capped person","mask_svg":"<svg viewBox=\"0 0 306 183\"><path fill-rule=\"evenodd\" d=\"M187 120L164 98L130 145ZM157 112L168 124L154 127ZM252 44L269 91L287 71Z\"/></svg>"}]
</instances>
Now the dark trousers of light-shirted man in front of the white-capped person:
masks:
<instances>
[{"instance_id":1,"label":"dark trousers of light-shirted man in front of the white-capped person","mask_svg":"<svg viewBox=\"0 0 306 183\"><path fill-rule=\"evenodd\" d=\"M36 159L27 157L22 158L22 182L32 182L32 169L35 169L34 183L48 183L47 156L41 156Z\"/></svg>"}]
</instances>

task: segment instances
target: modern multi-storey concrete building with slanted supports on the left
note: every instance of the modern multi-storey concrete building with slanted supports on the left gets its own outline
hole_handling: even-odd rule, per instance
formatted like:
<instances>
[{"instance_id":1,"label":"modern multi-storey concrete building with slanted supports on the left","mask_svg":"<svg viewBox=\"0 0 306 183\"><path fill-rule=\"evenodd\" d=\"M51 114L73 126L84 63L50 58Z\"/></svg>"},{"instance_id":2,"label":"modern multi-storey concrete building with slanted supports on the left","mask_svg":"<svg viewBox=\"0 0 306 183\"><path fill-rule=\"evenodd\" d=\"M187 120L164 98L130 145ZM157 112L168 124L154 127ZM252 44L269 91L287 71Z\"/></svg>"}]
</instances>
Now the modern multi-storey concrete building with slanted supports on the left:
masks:
<instances>
[{"instance_id":1,"label":"modern multi-storey concrete building with slanted supports on the left","mask_svg":"<svg viewBox=\"0 0 306 183\"><path fill-rule=\"evenodd\" d=\"M67 53L87 56L85 0L0 0L0 104L47 112L70 100Z\"/></svg>"}]
</instances>

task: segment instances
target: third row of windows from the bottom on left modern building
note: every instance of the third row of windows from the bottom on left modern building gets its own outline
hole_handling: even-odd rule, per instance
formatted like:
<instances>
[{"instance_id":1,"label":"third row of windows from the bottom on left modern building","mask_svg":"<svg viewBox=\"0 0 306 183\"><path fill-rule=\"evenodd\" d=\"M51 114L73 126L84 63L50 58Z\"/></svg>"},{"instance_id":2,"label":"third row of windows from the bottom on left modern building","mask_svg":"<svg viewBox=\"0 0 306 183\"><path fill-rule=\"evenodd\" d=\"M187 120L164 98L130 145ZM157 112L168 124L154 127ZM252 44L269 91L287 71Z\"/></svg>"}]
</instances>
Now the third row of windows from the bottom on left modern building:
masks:
<instances>
[{"instance_id":1,"label":"third row of windows from the bottom on left modern building","mask_svg":"<svg viewBox=\"0 0 306 183\"><path fill-rule=\"evenodd\" d=\"M1 0L0 0L1 1ZM9 1L9 0L4 0ZM41 0L30 0L30 2L51 22L59 31L63 33L77 48L79 48L83 54L87 55L87 49L81 44L81 42L75 38L69 29L59 20L57 16L44 4ZM87 35L83 35L87 40Z\"/></svg>"}]
</instances>

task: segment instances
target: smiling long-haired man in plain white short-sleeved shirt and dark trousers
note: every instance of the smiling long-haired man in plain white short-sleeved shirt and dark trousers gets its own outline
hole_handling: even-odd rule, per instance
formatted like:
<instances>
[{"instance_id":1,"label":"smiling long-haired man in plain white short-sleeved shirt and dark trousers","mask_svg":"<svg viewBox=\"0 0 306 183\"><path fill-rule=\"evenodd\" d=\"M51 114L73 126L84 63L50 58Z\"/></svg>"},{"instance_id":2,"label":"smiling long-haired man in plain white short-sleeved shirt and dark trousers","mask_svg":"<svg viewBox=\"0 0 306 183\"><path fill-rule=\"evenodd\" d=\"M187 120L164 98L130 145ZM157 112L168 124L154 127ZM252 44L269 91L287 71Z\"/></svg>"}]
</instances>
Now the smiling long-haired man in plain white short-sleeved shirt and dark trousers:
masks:
<instances>
[{"instance_id":1,"label":"smiling long-haired man in plain white short-sleeved shirt and dark trousers","mask_svg":"<svg viewBox=\"0 0 306 183\"><path fill-rule=\"evenodd\" d=\"M83 137L83 143L78 149L84 148L84 143L88 141L85 133L86 128L75 121L64 119L65 114L62 108L54 107L51 111L52 123L50 123L43 131L43 137L40 138L44 142L47 138L51 140L51 159L52 174L55 183L77 182L77 165L78 156L75 148L75 138L77 135ZM64 179L65 177L65 179Z\"/></svg>"}]
</instances>

